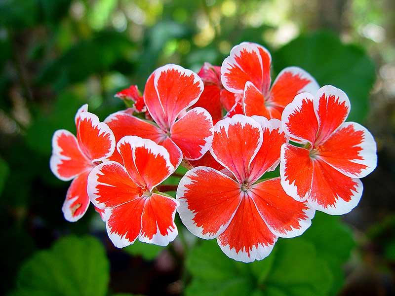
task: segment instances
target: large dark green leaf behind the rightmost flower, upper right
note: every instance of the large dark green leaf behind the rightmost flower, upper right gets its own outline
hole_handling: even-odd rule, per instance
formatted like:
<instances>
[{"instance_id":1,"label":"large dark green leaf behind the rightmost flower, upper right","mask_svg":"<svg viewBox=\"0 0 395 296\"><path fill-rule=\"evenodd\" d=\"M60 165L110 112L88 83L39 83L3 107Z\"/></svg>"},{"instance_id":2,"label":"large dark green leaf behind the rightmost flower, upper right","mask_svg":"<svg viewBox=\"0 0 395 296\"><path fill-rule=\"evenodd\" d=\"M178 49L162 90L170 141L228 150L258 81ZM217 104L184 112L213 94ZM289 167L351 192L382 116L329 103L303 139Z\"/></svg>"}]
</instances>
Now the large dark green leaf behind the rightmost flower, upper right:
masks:
<instances>
[{"instance_id":1,"label":"large dark green leaf behind the rightmost flower, upper right","mask_svg":"<svg viewBox=\"0 0 395 296\"><path fill-rule=\"evenodd\" d=\"M351 101L348 121L363 122L376 75L373 61L362 48L343 44L333 33L316 32L298 37L274 52L273 64L277 73L288 66L299 66L319 85L342 89Z\"/></svg>"}]
</instances>

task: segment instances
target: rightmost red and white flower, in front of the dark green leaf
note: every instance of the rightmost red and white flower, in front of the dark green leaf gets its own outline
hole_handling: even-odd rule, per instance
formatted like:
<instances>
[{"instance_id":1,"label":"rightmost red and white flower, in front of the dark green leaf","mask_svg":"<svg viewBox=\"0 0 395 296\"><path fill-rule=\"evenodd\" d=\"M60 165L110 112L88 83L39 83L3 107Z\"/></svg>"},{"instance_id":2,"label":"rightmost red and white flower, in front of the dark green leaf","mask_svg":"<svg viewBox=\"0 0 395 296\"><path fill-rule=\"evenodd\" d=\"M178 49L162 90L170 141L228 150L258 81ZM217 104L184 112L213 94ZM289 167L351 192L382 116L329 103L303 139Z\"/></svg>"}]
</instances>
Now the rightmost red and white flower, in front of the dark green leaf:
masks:
<instances>
[{"instance_id":1,"label":"rightmost red and white flower, in front of the dark green leaf","mask_svg":"<svg viewBox=\"0 0 395 296\"><path fill-rule=\"evenodd\" d=\"M356 122L345 122L350 101L340 89L321 87L302 93L282 113L287 135L307 143L281 148L281 185L296 200L331 215L350 212L362 195L359 178L377 164L376 143Z\"/></svg>"}]
</instances>

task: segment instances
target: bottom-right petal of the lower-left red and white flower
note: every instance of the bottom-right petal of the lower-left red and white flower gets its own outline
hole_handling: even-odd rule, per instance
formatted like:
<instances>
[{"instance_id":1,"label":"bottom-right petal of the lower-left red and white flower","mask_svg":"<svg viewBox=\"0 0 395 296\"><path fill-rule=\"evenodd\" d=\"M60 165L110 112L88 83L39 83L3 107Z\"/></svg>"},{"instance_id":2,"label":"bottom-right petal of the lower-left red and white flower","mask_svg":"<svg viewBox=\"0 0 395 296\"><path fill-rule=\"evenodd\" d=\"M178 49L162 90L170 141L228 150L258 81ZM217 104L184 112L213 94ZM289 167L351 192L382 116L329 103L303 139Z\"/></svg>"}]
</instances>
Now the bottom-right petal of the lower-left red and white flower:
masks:
<instances>
[{"instance_id":1,"label":"bottom-right petal of the lower-left red and white flower","mask_svg":"<svg viewBox=\"0 0 395 296\"><path fill-rule=\"evenodd\" d=\"M141 217L139 240L158 246L167 246L173 241L178 234L174 223L178 205L177 200L160 194L148 197Z\"/></svg>"}]
</instances>

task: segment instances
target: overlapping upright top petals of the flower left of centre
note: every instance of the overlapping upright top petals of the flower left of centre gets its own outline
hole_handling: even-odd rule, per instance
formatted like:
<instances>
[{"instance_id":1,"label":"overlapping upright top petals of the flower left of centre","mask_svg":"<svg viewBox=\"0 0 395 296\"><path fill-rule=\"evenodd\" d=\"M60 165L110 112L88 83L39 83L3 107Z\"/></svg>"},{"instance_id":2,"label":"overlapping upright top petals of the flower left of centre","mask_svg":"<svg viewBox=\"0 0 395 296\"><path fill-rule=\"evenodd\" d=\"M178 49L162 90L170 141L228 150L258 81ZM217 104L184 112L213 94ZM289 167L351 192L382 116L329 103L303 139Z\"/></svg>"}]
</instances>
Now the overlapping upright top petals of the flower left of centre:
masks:
<instances>
[{"instance_id":1,"label":"overlapping upright top petals of the flower left of centre","mask_svg":"<svg viewBox=\"0 0 395 296\"><path fill-rule=\"evenodd\" d=\"M169 129L181 111L194 105L202 92L203 82L196 73L168 64L148 78L144 101L159 127Z\"/></svg>"}]
</instances>

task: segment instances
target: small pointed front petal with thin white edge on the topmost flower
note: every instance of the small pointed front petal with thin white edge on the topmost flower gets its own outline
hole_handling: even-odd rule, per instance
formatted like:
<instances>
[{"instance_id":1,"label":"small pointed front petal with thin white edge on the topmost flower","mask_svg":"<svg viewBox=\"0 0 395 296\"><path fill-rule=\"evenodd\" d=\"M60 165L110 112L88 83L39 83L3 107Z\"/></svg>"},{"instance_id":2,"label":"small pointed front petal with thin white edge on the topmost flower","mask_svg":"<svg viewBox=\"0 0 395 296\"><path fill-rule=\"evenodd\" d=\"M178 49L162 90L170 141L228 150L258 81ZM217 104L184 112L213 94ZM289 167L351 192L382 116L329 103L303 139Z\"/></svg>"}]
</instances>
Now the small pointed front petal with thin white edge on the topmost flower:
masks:
<instances>
[{"instance_id":1,"label":"small pointed front petal with thin white edge on the topmost flower","mask_svg":"<svg viewBox=\"0 0 395 296\"><path fill-rule=\"evenodd\" d=\"M270 119L270 113L265 107L265 97L259 89L249 81L245 83L243 109L244 114L247 116L260 115Z\"/></svg>"}]
</instances>

